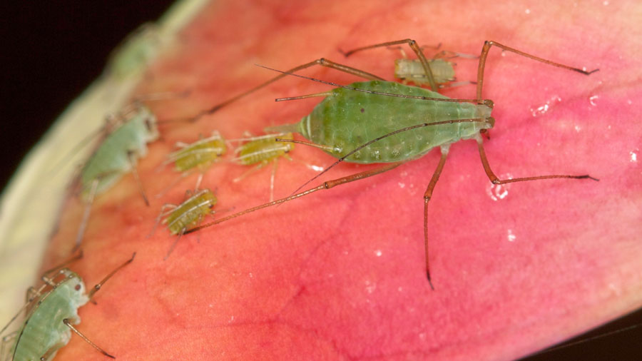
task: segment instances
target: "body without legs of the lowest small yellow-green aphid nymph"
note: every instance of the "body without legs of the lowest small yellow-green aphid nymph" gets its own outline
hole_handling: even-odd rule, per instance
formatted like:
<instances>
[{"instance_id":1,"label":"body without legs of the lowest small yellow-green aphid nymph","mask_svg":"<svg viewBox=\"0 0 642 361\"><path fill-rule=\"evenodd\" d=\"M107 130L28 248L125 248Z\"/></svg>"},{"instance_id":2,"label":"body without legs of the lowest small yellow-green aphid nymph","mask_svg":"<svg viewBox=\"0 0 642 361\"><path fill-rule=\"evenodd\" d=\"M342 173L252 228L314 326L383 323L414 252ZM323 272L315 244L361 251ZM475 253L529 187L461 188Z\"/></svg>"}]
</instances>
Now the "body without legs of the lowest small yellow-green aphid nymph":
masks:
<instances>
[{"instance_id":1,"label":"body without legs of the lowest small yellow-green aphid nymph","mask_svg":"<svg viewBox=\"0 0 642 361\"><path fill-rule=\"evenodd\" d=\"M183 233L196 225L200 218L212 212L217 199L209 189L200 190L195 195L185 200L168 215L163 223L167 224L172 234Z\"/></svg>"}]
</instances>

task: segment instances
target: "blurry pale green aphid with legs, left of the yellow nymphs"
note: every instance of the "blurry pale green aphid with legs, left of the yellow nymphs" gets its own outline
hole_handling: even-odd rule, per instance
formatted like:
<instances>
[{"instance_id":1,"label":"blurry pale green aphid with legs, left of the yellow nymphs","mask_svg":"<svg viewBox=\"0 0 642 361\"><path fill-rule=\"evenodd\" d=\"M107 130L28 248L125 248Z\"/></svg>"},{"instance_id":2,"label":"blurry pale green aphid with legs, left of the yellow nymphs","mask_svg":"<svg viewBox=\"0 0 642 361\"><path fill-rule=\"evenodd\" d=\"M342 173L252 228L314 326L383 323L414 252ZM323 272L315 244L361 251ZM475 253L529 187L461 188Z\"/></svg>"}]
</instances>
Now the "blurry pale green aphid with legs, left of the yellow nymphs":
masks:
<instances>
[{"instance_id":1,"label":"blurry pale green aphid with legs, left of the yellow nymphs","mask_svg":"<svg viewBox=\"0 0 642 361\"><path fill-rule=\"evenodd\" d=\"M109 132L96 148L78 177L81 196L86 207L76 235L74 250L81 245L91 213L91 205L96 195L111 188L126 173L132 171L143 200L149 205L138 178L136 163L139 158L146 156L147 143L158 139L156 116L149 108L137 103L133 109L119 114L111 122L114 124L108 125L113 128L113 131Z\"/></svg>"}]
</instances>

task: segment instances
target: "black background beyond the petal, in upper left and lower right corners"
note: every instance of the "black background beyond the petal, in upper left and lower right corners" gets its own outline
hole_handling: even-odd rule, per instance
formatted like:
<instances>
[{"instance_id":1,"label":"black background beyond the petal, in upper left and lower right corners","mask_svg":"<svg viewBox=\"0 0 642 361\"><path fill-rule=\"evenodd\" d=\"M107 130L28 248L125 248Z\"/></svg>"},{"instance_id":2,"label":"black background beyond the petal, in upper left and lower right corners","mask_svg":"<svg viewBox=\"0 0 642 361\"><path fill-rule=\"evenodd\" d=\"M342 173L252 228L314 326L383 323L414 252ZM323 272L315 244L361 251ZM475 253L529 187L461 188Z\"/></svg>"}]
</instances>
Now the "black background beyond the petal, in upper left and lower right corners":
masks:
<instances>
[{"instance_id":1,"label":"black background beyond the petal, in upper left and lower right corners","mask_svg":"<svg viewBox=\"0 0 642 361\"><path fill-rule=\"evenodd\" d=\"M110 51L171 3L6 1L0 21L0 188L54 119L101 74ZM640 323L642 310L588 336ZM525 360L642 360L642 327Z\"/></svg>"}]
</instances>

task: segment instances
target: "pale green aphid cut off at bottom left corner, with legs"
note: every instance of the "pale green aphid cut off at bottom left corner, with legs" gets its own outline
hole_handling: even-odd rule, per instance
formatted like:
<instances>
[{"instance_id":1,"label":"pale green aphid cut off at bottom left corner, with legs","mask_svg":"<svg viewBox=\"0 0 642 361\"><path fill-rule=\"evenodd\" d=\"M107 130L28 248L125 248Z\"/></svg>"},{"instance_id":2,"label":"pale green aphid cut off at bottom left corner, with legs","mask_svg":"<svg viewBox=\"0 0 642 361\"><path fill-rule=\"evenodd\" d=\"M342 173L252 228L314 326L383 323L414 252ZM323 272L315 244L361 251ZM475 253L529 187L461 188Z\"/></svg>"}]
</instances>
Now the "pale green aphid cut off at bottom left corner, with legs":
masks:
<instances>
[{"instance_id":1,"label":"pale green aphid cut off at bottom left corner, with legs","mask_svg":"<svg viewBox=\"0 0 642 361\"><path fill-rule=\"evenodd\" d=\"M63 265L49 270L42 276L44 285L28 293L29 302L14 316L0 331L0 334L16 320L22 310L27 310L26 317L20 329L13 332L13 337L4 337L1 360L29 361L52 360L61 347L71 339L71 332L79 335L103 355L115 358L91 342L73 325L81 322L78 308L86 305L93 295L113 276L131 263L136 256L134 253L129 260L111 271L91 291L86 292L83 279ZM82 257L82 253L67 263ZM66 263L65 263L66 264ZM50 277L51 275L51 277ZM9 347L6 347L9 346Z\"/></svg>"}]
</instances>

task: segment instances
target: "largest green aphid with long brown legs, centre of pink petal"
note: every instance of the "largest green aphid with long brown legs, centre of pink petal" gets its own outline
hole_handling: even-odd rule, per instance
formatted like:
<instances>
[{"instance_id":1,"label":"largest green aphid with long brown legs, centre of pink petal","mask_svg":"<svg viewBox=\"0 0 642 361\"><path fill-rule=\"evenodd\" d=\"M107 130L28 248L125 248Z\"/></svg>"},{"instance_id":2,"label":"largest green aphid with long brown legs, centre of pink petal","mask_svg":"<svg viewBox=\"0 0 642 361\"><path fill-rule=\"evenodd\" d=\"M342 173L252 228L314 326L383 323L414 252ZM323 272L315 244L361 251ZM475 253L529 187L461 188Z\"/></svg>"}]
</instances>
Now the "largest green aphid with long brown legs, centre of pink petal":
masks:
<instances>
[{"instance_id":1,"label":"largest green aphid with long brown legs, centre of pink petal","mask_svg":"<svg viewBox=\"0 0 642 361\"><path fill-rule=\"evenodd\" d=\"M417 44L414 41L405 39L401 41L390 41L387 43L376 44L374 46L365 46L347 52L347 54L349 55L355 51L394 44L409 44L413 50L417 47ZM574 68L561 63L542 59L513 49L509 46L496 43L495 41L486 41L481 50L477 73L477 97L474 99L451 99L442 96L439 93L435 93L434 91L429 91L415 86L404 86L399 83L388 81L375 80L352 83L350 86L341 86L336 83L320 81L318 79L300 76L290 72L279 71L283 73L282 75L288 74L291 76L312 79L320 83L337 86L337 88L309 96L277 99L278 101L310 98L312 96L325 96L324 100L317 104L312 113L303 117L299 123L271 127L270 130L295 131L301 133L302 136L312 141L312 145L322 148L335 158L339 158L334 165L341 161L389 164L382 166L381 168L356 173L352 176L326 181L316 188L311 188L302 193L290 195L290 197L287 198L275 200L270 203L265 203L263 205L243 210L233 215L228 215L227 217L193 228L191 231L225 222L226 220L230 220L232 218L239 217L240 215L245 215L271 205L300 198L303 195L314 193L317 190L329 189L337 185L374 176L384 171L389 171L402 163L423 156L433 148L439 147L442 156L439 160L439 164L437 165L437 169L434 171L432 178L427 185L426 191L424 192L424 248L426 276L430 287L433 288L429 267L430 258L428 253L427 210L429 200L432 197L432 191L434 190L434 186L437 184L437 180L439 180L439 175L446 163L449 147L452 143L465 139L474 139L477 141L482 166L484 167L486 176L488 176L489 180L494 184L550 178L590 178L597 180L596 178L588 175L550 175L499 179L493 171L491 171L488 160L486 159L483 141L480 136L480 133L492 128L495 122L494 118L491 117L491 111L494 103L489 99L481 97L481 89L484 83L484 66L486 63L486 56L488 55L491 46L497 46L504 51L510 51L514 54L519 54L535 61L576 71L584 75L589 75L597 71L597 69L593 71L584 71L580 68ZM418 47L417 55L419 59L421 59L424 69L428 69L427 63L425 63L425 56L423 56L421 49L418 49ZM350 71L349 73L354 72ZM328 171L332 166L326 168L322 173Z\"/></svg>"}]
</instances>

